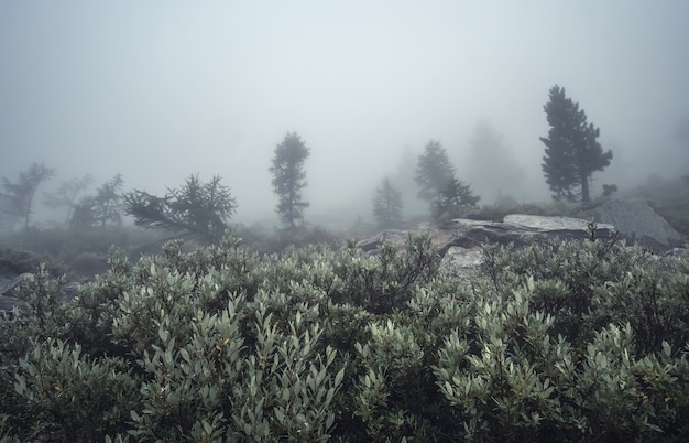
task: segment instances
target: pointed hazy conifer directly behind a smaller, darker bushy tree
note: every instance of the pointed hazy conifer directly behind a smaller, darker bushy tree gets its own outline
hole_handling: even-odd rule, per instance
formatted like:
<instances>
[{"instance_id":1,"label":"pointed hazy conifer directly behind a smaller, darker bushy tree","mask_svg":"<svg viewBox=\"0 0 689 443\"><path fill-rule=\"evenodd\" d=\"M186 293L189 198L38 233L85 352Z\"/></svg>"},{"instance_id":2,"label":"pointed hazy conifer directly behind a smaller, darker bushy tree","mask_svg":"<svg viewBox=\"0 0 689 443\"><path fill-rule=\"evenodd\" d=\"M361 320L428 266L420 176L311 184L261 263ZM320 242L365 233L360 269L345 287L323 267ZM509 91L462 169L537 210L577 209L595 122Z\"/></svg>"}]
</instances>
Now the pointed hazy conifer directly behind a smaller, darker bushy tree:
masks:
<instances>
[{"instance_id":1,"label":"pointed hazy conifer directly behind a smaller, darker bushy tree","mask_svg":"<svg viewBox=\"0 0 689 443\"><path fill-rule=\"evenodd\" d=\"M419 186L418 198L426 201L433 208L453 174L455 166L445 148L437 141L429 141L416 163L415 180Z\"/></svg>"}]
</instances>

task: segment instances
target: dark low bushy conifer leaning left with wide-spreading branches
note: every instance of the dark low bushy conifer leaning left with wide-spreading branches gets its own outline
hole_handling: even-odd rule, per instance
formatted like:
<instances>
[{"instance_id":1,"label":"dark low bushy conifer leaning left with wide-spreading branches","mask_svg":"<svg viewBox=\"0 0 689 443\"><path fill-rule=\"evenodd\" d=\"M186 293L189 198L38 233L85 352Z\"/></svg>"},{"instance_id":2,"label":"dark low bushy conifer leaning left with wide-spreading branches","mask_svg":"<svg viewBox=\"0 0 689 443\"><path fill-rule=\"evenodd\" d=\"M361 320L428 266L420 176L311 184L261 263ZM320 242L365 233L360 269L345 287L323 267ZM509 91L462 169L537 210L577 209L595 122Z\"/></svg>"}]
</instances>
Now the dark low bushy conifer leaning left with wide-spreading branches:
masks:
<instances>
[{"instance_id":1,"label":"dark low bushy conifer leaning left with wide-spreading branches","mask_svg":"<svg viewBox=\"0 0 689 443\"><path fill-rule=\"evenodd\" d=\"M230 188L214 176L203 183L190 175L179 190L168 188L163 197L134 190L124 194L124 212L134 225L146 229L188 233L212 244L222 238L237 210Z\"/></svg>"}]
</instances>

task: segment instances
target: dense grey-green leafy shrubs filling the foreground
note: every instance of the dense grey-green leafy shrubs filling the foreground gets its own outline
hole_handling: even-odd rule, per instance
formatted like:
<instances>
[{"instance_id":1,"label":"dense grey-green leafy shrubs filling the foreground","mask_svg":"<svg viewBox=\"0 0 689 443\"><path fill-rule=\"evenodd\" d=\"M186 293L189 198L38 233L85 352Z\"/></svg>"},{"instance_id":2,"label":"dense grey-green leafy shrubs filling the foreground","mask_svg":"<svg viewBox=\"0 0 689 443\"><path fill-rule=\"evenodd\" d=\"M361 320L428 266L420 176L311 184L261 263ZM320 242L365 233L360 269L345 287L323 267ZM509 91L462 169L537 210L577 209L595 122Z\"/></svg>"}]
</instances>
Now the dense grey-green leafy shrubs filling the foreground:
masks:
<instances>
[{"instance_id":1,"label":"dense grey-green leafy shrubs filling the foreground","mask_svg":"<svg viewBox=\"0 0 689 443\"><path fill-rule=\"evenodd\" d=\"M76 300L37 273L0 323L0 436L64 441L685 441L689 260L611 241L428 238L258 256L226 238Z\"/></svg>"}]
</instances>

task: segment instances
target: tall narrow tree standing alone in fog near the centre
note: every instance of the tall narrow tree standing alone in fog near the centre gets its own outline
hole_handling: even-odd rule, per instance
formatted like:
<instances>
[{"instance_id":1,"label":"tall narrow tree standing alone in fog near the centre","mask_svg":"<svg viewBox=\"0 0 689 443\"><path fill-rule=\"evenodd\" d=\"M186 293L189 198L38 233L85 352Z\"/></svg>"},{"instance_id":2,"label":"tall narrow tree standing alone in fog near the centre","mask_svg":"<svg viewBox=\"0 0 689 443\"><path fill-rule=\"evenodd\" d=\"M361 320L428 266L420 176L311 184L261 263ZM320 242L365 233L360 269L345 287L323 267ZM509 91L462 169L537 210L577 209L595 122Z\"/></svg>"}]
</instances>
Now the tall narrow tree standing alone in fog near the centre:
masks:
<instances>
[{"instance_id":1,"label":"tall narrow tree standing alone in fog near the centre","mask_svg":"<svg viewBox=\"0 0 689 443\"><path fill-rule=\"evenodd\" d=\"M296 220L304 222L304 208L308 207L302 196L306 186L304 162L309 150L296 132L288 132L285 139L275 147L275 153L270 168L273 174L273 190L277 195L277 215L289 228L296 227Z\"/></svg>"}]
</instances>

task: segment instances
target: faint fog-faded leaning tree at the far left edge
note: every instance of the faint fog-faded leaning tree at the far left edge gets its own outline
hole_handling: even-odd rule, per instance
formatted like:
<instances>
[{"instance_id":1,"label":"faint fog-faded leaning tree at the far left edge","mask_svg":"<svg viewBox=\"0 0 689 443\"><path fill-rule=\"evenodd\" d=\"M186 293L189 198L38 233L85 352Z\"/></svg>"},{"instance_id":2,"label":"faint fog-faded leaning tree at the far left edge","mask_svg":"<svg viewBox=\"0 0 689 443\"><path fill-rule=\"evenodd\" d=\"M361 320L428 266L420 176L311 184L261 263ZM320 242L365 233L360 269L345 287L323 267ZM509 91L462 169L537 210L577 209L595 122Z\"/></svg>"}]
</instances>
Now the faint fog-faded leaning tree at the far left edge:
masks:
<instances>
[{"instance_id":1,"label":"faint fog-faded leaning tree at the far left edge","mask_svg":"<svg viewBox=\"0 0 689 443\"><path fill-rule=\"evenodd\" d=\"M29 229L33 196L39 185L54 174L55 170L46 168L43 163L32 163L28 171L20 172L15 183L3 177L2 185L6 190L3 201L6 204L0 207L0 210L23 218L24 229Z\"/></svg>"}]
</instances>

